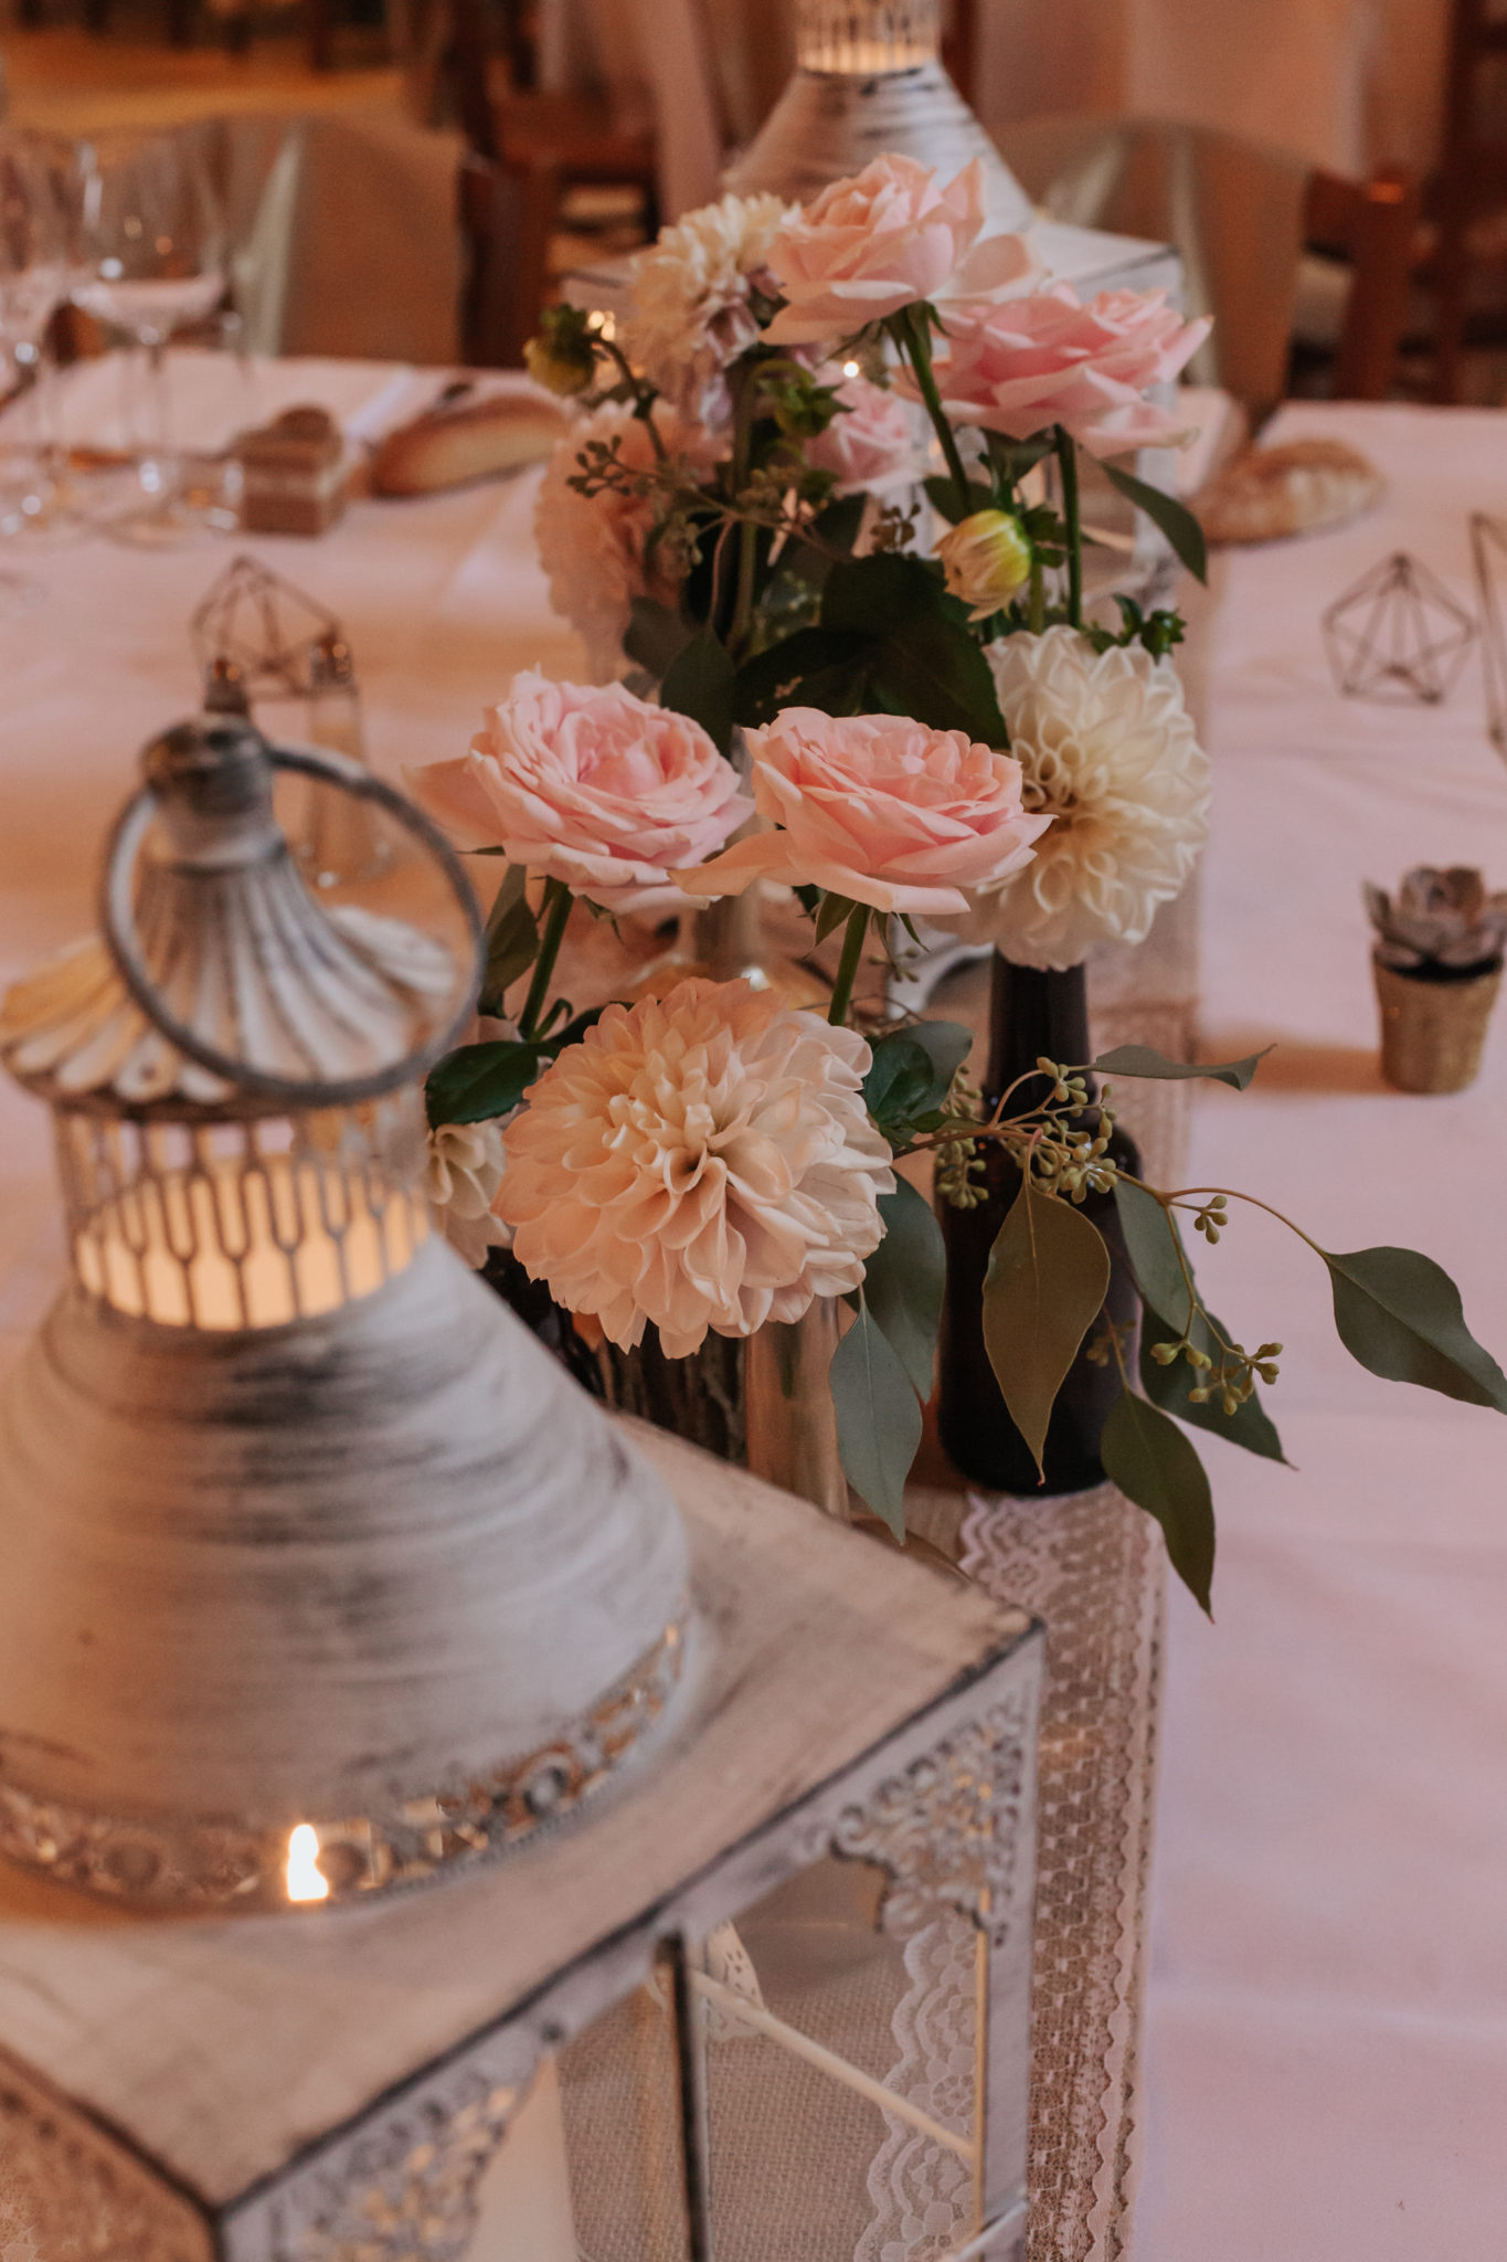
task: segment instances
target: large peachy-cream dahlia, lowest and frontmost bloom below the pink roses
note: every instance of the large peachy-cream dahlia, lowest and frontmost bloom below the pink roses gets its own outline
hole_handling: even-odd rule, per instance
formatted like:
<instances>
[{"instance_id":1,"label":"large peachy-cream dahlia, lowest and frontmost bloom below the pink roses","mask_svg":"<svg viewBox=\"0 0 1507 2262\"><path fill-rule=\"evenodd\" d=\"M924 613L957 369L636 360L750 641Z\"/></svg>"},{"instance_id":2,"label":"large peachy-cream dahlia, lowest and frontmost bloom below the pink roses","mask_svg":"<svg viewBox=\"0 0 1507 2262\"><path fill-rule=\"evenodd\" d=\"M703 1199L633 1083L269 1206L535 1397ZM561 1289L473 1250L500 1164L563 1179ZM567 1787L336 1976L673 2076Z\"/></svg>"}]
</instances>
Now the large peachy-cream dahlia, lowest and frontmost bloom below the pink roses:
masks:
<instances>
[{"instance_id":1,"label":"large peachy-cream dahlia, lowest and frontmost bloom below the pink roses","mask_svg":"<svg viewBox=\"0 0 1507 2262\"><path fill-rule=\"evenodd\" d=\"M859 1287L883 1240L890 1149L870 1050L746 982L612 1004L506 1129L513 1253L624 1350L752 1335Z\"/></svg>"}]
</instances>

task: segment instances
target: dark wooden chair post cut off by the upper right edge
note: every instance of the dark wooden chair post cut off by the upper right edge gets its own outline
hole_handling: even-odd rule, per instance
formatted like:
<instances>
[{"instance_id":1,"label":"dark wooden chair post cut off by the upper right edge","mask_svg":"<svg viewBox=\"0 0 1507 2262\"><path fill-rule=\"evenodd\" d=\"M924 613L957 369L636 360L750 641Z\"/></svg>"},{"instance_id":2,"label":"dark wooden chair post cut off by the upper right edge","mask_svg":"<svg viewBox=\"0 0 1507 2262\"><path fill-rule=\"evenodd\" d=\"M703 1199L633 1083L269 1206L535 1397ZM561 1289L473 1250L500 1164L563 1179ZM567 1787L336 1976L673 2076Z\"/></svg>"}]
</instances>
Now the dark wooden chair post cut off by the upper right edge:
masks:
<instances>
[{"instance_id":1,"label":"dark wooden chair post cut off by the upper right edge","mask_svg":"<svg viewBox=\"0 0 1507 2262\"><path fill-rule=\"evenodd\" d=\"M1487 131L1491 97L1507 81L1507 16L1498 0L1455 0L1444 93L1441 163L1435 181L1437 240L1423 278L1435 292L1435 400L1460 400L1466 353L1466 301L1478 274L1507 269L1502 235L1484 226L1507 219L1507 140Z\"/></svg>"}]
</instances>

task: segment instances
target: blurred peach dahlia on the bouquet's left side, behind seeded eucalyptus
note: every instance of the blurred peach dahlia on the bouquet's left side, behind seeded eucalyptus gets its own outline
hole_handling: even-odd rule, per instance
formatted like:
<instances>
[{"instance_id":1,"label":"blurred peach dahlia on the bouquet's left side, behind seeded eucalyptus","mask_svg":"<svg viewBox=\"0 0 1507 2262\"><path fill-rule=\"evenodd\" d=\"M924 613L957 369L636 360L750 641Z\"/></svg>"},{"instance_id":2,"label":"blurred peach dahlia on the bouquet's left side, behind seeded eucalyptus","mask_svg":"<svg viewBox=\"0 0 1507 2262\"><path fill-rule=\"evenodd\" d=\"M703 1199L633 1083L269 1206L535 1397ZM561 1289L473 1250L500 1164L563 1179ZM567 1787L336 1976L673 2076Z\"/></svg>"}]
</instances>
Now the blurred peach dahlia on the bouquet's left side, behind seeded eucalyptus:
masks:
<instances>
[{"instance_id":1,"label":"blurred peach dahlia on the bouquet's left side, behind seeded eucalyptus","mask_svg":"<svg viewBox=\"0 0 1507 2262\"><path fill-rule=\"evenodd\" d=\"M655 430L667 455L680 457L694 482L716 461L716 441L687 423L667 403L655 403ZM558 441L540 482L533 536L549 577L549 602L585 638L590 670L599 683L624 672L624 631L635 597L673 606L680 595L680 561L653 545L657 511L653 495L606 491L581 495L569 482L583 470L583 450L617 441L628 470L653 470L657 455L644 421L621 400L592 409Z\"/></svg>"}]
</instances>

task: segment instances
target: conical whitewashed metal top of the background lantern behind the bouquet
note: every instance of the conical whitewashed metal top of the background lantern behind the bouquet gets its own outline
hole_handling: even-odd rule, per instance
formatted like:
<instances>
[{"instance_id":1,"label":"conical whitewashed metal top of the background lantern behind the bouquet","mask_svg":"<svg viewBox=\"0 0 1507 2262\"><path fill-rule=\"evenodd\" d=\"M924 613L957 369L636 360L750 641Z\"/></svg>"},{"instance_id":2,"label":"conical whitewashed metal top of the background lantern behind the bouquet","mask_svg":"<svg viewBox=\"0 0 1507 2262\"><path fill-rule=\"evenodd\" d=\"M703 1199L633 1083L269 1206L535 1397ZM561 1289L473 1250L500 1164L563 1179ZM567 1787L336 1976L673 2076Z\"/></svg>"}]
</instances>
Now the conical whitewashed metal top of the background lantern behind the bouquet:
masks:
<instances>
[{"instance_id":1,"label":"conical whitewashed metal top of the background lantern behind the bouquet","mask_svg":"<svg viewBox=\"0 0 1507 2262\"><path fill-rule=\"evenodd\" d=\"M728 188L807 204L890 152L947 176L981 158L990 228L1030 226L1026 190L942 70L940 0L798 0L795 77Z\"/></svg>"}]
</instances>

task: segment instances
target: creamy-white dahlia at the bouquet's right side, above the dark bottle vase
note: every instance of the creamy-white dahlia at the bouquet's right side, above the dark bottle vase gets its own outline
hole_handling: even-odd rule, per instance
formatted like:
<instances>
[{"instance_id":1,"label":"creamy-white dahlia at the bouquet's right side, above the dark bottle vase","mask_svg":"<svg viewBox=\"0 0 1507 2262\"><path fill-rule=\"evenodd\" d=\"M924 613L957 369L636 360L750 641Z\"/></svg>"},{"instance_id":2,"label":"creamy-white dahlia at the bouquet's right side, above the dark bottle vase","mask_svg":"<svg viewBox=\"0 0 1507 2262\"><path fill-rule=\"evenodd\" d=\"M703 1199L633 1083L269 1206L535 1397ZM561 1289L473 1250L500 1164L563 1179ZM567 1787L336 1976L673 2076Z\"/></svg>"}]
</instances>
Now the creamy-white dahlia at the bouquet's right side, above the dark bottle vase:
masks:
<instances>
[{"instance_id":1,"label":"creamy-white dahlia at the bouquet's right side, above the dark bottle vase","mask_svg":"<svg viewBox=\"0 0 1507 2262\"><path fill-rule=\"evenodd\" d=\"M1053 821L1021 873L976 889L965 932L1051 968L1143 941L1209 832L1209 758L1177 670L1062 627L1005 636L990 665L1023 803Z\"/></svg>"}]
</instances>

